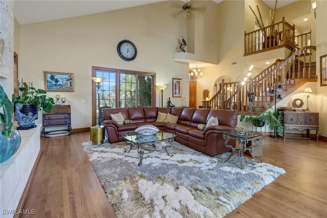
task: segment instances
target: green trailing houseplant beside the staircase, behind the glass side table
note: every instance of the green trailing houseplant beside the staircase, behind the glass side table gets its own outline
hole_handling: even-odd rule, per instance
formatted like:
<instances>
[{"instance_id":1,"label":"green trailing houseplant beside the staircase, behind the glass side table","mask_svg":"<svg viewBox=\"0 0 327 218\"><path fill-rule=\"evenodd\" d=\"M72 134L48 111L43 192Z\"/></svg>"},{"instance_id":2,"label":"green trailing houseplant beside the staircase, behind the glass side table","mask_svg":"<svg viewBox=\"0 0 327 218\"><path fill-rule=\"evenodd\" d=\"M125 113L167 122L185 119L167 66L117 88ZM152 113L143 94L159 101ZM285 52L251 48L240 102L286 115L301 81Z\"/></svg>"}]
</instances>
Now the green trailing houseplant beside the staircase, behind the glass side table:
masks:
<instances>
[{"instance_id":1,"label":"green trailing houseplant beside the staircase, behind the glass side table","mask_svg":"<svg viewBox=\"0 0 327 218\"><path fill-rule=\"evenodd\" d=\"M269 106L270 107L270 106ZM270 109L272 109L270 107ZM264 121L270 130L276 128L277 133L282 134L284 130L283 126L283 115L281 112L277 113L276 111L266 110L258 116L240 116L240 122L251 122L254 126L259 126L259 122ZM256 111L259 113L259 111Z\"/></svg>"}]
</instances>

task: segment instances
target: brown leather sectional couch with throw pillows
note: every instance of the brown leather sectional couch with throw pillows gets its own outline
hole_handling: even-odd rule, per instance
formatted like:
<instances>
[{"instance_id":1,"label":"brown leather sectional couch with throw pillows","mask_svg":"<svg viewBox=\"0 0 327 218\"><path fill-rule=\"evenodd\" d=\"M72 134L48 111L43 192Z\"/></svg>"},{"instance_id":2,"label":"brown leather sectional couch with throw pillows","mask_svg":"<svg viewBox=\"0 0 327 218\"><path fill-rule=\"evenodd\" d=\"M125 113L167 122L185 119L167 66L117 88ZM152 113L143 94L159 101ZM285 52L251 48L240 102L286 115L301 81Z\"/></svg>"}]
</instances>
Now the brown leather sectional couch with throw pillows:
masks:
<instances>
[{"instance_id":1,"label":"brown leather sectional couch with throw pillows","mask_svg":"<svg viewBox=\"0 0 327 218\"><path fill-rule=\"evenodd\" d=\"M177 124L156 122L158 111L178 116ZM110 114L121 112L131 124L118 125ZM212 116L218 118L218 126L209 126L204 131L199 130L199 124L206 124ZM105 108L102 111L105 134L110 143L124 141L122 134L134 131L137 127L150 124L160 130L174 133L175 141L210 156L230 151L225 147L222 131L230 130L237 125L237 112L219 109L196 109L186 107L133 107ZM235 146L235 140L228 144Z\"/></svg>"}]
</instances>

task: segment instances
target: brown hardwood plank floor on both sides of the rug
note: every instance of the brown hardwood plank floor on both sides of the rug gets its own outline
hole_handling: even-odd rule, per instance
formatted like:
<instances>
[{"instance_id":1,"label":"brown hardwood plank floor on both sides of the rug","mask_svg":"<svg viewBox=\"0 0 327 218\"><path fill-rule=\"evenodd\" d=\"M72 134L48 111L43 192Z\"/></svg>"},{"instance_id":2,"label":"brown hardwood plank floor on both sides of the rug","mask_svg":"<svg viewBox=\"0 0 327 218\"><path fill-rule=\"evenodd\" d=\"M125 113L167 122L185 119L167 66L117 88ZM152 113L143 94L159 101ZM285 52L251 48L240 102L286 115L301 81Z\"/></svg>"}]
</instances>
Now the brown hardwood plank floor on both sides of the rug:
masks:
<instances>
[{"instance_id":1,"label":"brown hardwood plank floor on both sides of the rug","mask_svg":"<svg viewBox=\"0 0 327 218\"><path fill-rule=\"evenodd\" d=\"M41 138L42 155L18 208L35 214L19 217L115 217L81 147L89 140L89 132ZM263 155L286 174L226 217L327 217L327 142L266 136Z\"/></svg>"}]
</instances>

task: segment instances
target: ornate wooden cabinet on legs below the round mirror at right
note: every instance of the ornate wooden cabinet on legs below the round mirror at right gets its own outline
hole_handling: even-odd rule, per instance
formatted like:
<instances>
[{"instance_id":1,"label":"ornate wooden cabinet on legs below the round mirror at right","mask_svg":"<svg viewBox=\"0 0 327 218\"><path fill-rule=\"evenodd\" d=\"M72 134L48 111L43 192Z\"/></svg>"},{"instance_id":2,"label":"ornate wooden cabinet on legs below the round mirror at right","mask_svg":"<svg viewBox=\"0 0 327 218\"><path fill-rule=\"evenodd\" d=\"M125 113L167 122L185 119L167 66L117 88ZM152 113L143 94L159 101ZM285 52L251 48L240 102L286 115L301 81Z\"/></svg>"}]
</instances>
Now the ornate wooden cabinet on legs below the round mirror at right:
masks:
<instances>
[{"instance_id":1,"label":"ornate wooden cabinet on legs below the round mirror at right","mask_svg":"<svg viewBox=\"0 0 327 218\"><path fill-rule=\"evenodd\" d=\"M318 141L319 131L319 113L310 111L283 111L284 131L283 137L285 138L305 138L310 139L310 130L315 130L315 139ZM291 137L286 135L287 129L306 130L305 137Z\"/></svg>"}]
</instances>

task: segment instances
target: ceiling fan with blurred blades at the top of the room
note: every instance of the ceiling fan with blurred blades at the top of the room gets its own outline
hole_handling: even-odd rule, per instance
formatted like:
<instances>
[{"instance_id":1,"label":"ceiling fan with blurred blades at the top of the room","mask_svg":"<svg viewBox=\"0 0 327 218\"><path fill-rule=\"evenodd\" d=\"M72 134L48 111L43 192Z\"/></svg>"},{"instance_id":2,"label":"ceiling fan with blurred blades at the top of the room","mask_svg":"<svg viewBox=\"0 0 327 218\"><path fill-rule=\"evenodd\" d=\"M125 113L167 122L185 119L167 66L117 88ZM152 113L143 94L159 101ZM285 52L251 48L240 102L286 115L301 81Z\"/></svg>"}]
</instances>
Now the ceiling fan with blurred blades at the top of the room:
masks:
<instances>
[{"instance_id":1,"label":"ceiling fan with blurred blades at the top of the room","mask_svg":"<svg viewBox=\"0 0 327 218\"><path fill-rule=\"evenodd\" d=\"M181 5L179 3L175 3L174 5L172 5L173 8L175 8L176 10L178 10L177 12L175 12L174 14L172 14L172 16L175 18L181 14L184 14L184 18L185 19L194 19L194 13L195 11L205 11L205 4L201 1L198 2L194 2L195 7L192 7L192 5L188 2L188 0L186 0L186 3Z\"/></svg>"}]
</instances>

